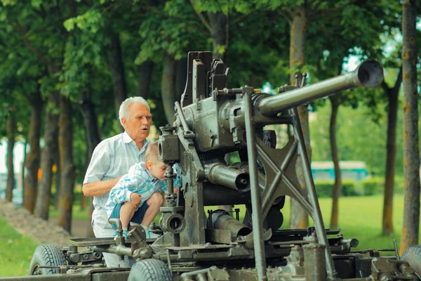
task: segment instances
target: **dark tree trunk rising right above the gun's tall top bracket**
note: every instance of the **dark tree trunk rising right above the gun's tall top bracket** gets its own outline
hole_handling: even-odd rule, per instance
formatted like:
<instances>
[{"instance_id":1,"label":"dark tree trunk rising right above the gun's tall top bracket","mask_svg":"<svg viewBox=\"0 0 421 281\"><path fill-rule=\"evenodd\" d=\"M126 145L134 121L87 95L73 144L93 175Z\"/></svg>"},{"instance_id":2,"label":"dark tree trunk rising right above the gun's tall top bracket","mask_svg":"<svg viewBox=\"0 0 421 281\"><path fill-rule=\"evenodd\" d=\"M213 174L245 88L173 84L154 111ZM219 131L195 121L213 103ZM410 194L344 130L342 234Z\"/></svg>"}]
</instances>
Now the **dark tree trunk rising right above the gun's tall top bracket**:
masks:
<instances>
[{"instance_id":1,"label":"dark tree trunk rising right above the gun's tall top bracket","mask_svg":"<svg viewBox=\"0 0 421 281\"><path fill-rule=\"evenodd\" d=\"M220 58L227 65L228 18L222 12L208 13L213 42L213 58Z\"/></svg>"}]
</instances>

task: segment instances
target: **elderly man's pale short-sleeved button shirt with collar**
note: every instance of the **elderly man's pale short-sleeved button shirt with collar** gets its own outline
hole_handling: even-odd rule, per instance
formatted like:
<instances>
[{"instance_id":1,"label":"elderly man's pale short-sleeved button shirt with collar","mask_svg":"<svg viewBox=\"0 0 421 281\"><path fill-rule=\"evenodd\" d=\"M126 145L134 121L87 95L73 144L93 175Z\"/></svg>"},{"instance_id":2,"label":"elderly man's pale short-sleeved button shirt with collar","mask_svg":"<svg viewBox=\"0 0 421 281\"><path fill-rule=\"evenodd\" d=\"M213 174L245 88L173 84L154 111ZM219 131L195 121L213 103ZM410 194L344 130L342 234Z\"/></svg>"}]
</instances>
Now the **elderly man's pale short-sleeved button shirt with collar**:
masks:
<instances>
[{"instance_id":1,"label":"elderly man's pale short-sleeved button shirt with collar","mask_svg":"<svg viewBox=\"0 0 421 281\"><path fill-rule=\"evenodd\" d=\"M101 141L95 150L86 170L83 184L94 181L107 181L128 173L128 169L138 162L145 160L145 152L149 141L145 139L143 147L139 150L135 141L126 131L112 138ZM102 196L93 197L93 206L104 209L109 192Z\"/></svg>"}]
</instances>

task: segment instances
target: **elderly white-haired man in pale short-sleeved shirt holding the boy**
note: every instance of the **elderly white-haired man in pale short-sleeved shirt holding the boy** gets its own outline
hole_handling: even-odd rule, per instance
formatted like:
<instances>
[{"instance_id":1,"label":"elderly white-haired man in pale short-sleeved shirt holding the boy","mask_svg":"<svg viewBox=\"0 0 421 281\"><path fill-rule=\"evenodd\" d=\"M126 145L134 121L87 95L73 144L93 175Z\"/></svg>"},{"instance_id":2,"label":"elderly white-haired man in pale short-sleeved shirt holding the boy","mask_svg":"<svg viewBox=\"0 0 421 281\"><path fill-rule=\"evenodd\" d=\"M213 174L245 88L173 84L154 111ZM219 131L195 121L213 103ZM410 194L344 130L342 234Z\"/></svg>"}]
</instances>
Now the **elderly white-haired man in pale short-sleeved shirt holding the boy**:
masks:
<instances>
[{"instance_id":1,"label":"elderly white-haired man in pale short-sleeved shirt holding the boy","mask_svg":"<svg viewBox=\"0 0 421 281\"><path fill-rule=\"evenodd\" d=\"M133 97L124 100L120 106L119 119L124 132L98 144L83 181L83 194L93 196L95 209L92 214L92 227L95 237L114 235L105 210L109 190L116 185L121 176L127 174L133 164L144 161L149 143L146 138L152 124L152 115L144 98ZM151 199L162 202L162 195L154 193ZM140 202L140 197L138 200ZM145 207L142 207L140 216L143 216L149 207L147 204L143 205ZM142 217L139 219L142 221ZM116 254L104 254L104 258L109 267L129 266L128 260L120 261Z\"/></svg>"}]
</instances>

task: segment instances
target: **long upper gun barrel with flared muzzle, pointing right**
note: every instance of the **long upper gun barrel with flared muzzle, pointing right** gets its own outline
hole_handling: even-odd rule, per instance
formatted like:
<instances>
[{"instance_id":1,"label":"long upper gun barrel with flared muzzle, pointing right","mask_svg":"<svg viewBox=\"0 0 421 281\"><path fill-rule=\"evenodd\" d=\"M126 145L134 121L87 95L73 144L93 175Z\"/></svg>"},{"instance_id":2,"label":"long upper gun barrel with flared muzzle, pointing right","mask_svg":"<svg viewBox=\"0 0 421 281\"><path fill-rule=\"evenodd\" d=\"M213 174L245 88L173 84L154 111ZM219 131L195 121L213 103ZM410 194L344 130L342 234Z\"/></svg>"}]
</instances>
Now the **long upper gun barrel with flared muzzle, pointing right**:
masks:
<instances>
[{"instance_id":1,"label":"long upper gun barrel with flared muzzle, pointing right","mask_svg":"<svg viewBox=\"0 0 421 281\"><path fill-rule=\"evenodd\" d=\"M318 98L330 96L338 91L356 86L374 88L383 81L383 68L375 60L366 60L356 70L333 77L316 84L287 91L280 95L262 98L257 108L262 115L272 116L291 107L309 103Z\"/></svg>"}]
</instances>

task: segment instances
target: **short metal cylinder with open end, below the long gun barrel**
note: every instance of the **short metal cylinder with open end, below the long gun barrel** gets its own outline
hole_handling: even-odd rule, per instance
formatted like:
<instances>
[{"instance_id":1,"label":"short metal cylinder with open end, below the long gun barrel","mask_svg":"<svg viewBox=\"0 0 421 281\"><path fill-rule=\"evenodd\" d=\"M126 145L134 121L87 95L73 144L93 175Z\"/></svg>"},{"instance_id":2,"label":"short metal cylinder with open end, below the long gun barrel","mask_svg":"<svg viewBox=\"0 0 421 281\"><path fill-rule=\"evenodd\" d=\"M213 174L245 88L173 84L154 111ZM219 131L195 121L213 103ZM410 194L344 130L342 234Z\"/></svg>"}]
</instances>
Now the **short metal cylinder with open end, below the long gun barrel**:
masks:
<instances>
[{"instance_id":1,"label":"short metal cylinder with open end, below the long gun barrel","mask_svg":"<svg viewBox=\"0 0 421 281\"><path fill-rule=\"evenodd\" d=\"M205 176L210 183L246 192L250 190L250 176L244 171L222 163L205 164Z\"/></svg>"}]
</instances>

